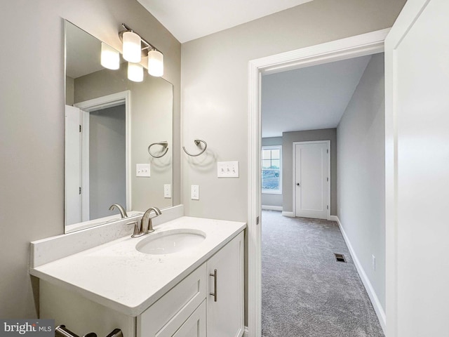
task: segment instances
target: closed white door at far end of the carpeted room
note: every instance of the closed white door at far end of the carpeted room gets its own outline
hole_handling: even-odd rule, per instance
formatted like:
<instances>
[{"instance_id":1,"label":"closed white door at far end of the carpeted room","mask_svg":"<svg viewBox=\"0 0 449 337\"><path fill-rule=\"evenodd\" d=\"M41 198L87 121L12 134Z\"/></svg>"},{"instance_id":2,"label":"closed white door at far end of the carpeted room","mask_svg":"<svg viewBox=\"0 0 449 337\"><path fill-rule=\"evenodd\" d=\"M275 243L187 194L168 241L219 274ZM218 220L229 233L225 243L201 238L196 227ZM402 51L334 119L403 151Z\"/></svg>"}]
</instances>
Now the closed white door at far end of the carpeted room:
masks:
<instances>
[{"instance_id":1,"label":"closed white door at far end of the carpeted room","mask_svg":"<svg viewBox=\"0 0 449 337\"><path fill-rule=\"evenodd\" d=\"M328 218L328 142L294 143L295 216Z\"/></svg>"}]
</instances>

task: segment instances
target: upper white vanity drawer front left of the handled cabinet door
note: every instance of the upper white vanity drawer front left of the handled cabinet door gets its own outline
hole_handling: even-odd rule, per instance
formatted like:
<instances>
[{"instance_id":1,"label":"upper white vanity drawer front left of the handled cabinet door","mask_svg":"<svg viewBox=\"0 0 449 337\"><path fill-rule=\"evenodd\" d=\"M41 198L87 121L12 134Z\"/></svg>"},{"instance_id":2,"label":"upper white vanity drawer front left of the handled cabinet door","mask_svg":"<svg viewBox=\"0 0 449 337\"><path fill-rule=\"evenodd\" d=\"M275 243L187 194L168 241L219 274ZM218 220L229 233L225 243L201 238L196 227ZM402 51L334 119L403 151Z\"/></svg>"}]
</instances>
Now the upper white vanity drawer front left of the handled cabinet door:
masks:
<instances>
[{"instance_id":1,"label":"upper white vanity drawer front left of the handled cabinet door","mask_svg":"<svg viewBox=\"0 0 449 337\"><path fill-rule=\"evenodd\" d=\"M138 336L173 336L205 298L206 263L142 312L138 317Z\"/></svg>"}]
</instances>

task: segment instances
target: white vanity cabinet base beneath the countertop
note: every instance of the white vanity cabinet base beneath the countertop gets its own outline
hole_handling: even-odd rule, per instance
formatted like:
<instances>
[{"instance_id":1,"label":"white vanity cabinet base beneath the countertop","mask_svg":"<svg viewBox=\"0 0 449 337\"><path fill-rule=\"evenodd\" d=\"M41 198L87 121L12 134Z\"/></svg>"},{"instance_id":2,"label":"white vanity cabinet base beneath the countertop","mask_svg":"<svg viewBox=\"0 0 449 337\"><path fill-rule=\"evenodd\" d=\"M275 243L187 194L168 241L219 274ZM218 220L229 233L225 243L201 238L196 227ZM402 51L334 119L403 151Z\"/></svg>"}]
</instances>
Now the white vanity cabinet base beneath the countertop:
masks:
<instances>
[{"instance_id":1,"label":"white vanity cabinet base beneath the countertop","mask_svg":"<svg viewBox=\"0 0 449 337\"><path fill-rule=\"evenodd\" d=\"M105 337L119 328L124 337L241 337L243 244L242 231L137 317L41 279L40 317L55 319L79 336ZM210 276L215 270L216 277ZM141 279L135 284L145 286Z\"/></svg>"}]
</instances>

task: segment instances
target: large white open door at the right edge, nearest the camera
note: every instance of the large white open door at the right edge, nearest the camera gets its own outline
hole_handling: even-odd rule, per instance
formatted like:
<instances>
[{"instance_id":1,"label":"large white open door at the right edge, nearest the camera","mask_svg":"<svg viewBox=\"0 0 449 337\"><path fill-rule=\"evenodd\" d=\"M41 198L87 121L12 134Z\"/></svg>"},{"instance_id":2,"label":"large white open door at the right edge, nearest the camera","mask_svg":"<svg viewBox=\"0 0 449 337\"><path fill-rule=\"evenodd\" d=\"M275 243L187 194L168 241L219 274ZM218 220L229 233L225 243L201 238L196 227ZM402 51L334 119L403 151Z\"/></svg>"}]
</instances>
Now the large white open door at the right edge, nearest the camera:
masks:
<instances>
[{"instance_id":1,"label":"large white open door at the right edge, nearest the camera","mask_svg":"<svg viewBox=\"0 0 449 337\"><path fill-rule=\"evenodd\" d=\"M449 1L385 40L387 336L449 336Z\"/></svg>"}]
</instances>

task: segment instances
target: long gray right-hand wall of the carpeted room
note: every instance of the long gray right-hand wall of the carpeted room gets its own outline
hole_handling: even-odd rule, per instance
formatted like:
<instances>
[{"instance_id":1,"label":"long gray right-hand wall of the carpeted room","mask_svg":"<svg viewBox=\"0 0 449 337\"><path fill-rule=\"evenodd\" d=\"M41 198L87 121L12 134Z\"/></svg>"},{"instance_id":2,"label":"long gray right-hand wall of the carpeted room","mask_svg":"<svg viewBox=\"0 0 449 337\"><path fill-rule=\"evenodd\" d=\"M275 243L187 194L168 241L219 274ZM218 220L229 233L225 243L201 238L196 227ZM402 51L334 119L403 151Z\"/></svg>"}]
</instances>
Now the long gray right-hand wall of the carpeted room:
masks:
<instances>
[{"instance_id":1,"label":"long gray right-hand wall of the carpeted room","mask_svg":"<svg viewBox=\"0 0 449 337\"><path fill-rule=\"evenodd\" d=\"M371 58L344 112L337 128L337 148L337 215L385 310L383 53Z\"/></svg>"}]
</instances>

